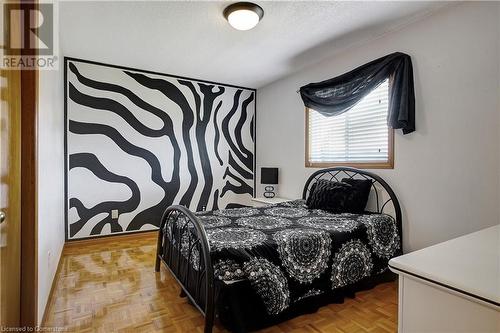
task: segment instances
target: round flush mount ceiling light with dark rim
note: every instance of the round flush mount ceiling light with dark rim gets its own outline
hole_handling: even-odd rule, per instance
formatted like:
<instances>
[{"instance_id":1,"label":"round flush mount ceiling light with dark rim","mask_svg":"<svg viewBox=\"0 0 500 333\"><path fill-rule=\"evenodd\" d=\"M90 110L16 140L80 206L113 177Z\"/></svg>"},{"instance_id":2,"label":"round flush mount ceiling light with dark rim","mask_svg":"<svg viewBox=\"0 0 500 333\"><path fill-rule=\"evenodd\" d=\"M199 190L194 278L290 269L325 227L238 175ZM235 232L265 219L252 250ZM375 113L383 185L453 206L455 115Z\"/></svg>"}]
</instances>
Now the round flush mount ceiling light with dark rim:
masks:
<instances>
[{"instance_id":1,"label":"round flush mount ceiling light with dark rim","mask_svg":"<svg viewBox=\"0 0 500 333\"><path fill-rule=\"evenodd\" d=\"M237 2L224 9L224 17L238 30L250 30L262 20L264 10L251 2Z\"/></svg>"}]
</instances>

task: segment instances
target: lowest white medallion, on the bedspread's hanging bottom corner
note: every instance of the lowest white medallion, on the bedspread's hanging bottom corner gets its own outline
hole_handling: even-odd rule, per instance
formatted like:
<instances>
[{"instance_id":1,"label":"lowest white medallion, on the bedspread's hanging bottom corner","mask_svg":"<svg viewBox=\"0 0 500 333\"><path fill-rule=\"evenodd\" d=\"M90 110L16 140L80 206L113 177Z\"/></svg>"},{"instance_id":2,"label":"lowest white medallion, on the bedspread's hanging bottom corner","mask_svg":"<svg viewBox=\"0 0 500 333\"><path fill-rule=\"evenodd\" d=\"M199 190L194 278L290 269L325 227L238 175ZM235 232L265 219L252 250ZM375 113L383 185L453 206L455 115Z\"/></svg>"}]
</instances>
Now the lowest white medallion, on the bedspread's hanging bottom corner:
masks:
<instances>
[{"instance_id":1,"label":"lowest white medallion, on the bedspread's hanging bottom corner","mask_svg":"<svg viewBox=\"0 0 500 333\"><path fill-rule=\"evenodd\" d=\"M252 258L243 269L268 314L278 314L289 306L288 282L278 266L264 258Z\"/></svg>"}]
</instances>

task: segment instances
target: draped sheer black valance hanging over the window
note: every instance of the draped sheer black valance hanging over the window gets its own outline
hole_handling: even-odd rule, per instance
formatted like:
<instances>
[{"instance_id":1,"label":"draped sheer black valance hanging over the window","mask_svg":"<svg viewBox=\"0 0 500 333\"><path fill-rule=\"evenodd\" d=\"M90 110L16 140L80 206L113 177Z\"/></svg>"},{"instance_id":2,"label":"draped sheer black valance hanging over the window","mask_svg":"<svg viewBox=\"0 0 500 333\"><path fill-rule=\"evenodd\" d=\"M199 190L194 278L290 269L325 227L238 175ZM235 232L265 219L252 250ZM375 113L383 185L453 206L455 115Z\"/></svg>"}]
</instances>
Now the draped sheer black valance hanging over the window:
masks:
<instances>
[{"instance_id":1,"label":"draped sheer black valance hanging over the window","mask_svg":"<svg viewBox=\"0 0 500 333\"><path fill-rule=\"evenodd\" d=\"M390 78L387 124L404 134L415 131L415 89L409 55L396 52L341 76L300 88L306 107L325 116L348 111L373 89Z\"/></svg>"}]
</instances>

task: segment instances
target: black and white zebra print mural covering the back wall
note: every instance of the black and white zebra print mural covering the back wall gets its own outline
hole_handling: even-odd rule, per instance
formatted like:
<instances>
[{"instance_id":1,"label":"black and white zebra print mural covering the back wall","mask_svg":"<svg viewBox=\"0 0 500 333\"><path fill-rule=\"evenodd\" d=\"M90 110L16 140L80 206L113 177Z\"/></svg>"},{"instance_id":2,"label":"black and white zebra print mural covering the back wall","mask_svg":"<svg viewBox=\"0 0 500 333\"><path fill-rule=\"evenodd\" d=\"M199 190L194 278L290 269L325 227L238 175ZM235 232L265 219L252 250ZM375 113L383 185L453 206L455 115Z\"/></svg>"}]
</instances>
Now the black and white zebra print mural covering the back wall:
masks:
<instances>
[{"instance_id":1,"label":"black and white zebra print mural covering the back wall","mask_svg":"<svg viewBox=\"0 0 500 333\"><path fill-rule=\"evenodd\" d=\"M65 58L66 238L249 205L254 89Z\"/></svg>"}]
</instances>

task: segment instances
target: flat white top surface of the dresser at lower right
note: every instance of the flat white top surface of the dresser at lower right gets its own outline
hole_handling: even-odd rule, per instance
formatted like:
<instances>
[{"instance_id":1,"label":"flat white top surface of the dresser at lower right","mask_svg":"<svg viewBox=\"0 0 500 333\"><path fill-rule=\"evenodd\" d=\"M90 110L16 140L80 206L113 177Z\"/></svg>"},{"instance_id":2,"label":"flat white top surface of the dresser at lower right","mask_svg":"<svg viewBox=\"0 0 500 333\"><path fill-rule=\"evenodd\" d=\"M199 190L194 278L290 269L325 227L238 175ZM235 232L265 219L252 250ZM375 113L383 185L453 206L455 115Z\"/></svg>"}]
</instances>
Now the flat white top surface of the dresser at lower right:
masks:
<instances>
[{"instance_id":1,"label":"flat white top surface of the dresser at lower right","mask_svg":"<svg viewBox=\"0 0 500 333\"><path fill-rule=\"evenodd\" d=\"M500 224L393 258L389 266L499 306Z\"/></svg>"}]
</instances>

